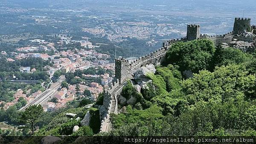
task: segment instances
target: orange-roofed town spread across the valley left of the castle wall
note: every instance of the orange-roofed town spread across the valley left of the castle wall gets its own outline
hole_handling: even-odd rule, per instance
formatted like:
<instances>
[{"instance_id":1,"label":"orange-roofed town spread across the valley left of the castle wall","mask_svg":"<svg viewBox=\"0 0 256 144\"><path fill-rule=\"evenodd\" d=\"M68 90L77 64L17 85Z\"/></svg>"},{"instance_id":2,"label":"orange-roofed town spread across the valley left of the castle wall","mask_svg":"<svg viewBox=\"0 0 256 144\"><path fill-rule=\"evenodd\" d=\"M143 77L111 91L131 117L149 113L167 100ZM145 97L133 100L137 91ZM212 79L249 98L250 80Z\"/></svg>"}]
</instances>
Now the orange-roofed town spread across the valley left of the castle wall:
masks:
<instances>
[{"instance_id":1,"label":"orange-roofed town spread across the valley left of the castle wall","mask_svg":"<svg viewBox=\"0 0 256 144\"><path fill-rule=\"evenodd\" d=\"M6 57L6 61L9 63L31 58L41 59L41 61L50 61L50 65L45 65L43 68L43 71L47 73L48 78L45 82L41 83L41 88L38 91L31 91L29 88L19 88L17 91L14 91L14 99L11 102L8 102L8 100L7 102L0 101L5 110L10 106L15 105L19 99L24 99L27 104L32 102L45 89L50 88L52 83L58 81L58 73L81 72L79 75L69 78L69 84L66 88L61 88L57 90L55 94L51 95L51 98L57 99L55 102L44 102L43 105L45 111L54 111L61 107L65 107L67 102L77 98L77 93L81 93L80 98L84 97L84 90L89 90L92 95L87 98L95 101L98 98L99 93L102 93L103 86L112 82L111 73L113 73L114 64L109 62L108 59L110 56L93 50L92 48L96 46L93 46L88 39L77 41L71 40L72 37L64 34L53 34L51 37L59 39L56 44L58 44L60 48L55 48L55 43L53 42L34 39L30 40L30 46L17 48L17 52L6 53L6 51L1 51L1 54ZM78 44L80 48L68 49L67 47L61 47L61 45L68 44ZM100 68L102 72L97 73L96 71L98 68ZM87 69L88 72L86 71ZM90 69L92 72L90 72ZM104 71L106 70L112 72L105 73ZM20 67L19 71L23 74L33 74L36 73L38 69L33 65L32 67L29 65L28 67ZM85 81L84 79L87 80ZM1 80L9 82L19 82L19 80L21 80L20 82L23 82L22 80L28 80L29 82L30 79L20 78L15 73L6 73L6 76L1 77Z\"/></svg>"}]
</instances>

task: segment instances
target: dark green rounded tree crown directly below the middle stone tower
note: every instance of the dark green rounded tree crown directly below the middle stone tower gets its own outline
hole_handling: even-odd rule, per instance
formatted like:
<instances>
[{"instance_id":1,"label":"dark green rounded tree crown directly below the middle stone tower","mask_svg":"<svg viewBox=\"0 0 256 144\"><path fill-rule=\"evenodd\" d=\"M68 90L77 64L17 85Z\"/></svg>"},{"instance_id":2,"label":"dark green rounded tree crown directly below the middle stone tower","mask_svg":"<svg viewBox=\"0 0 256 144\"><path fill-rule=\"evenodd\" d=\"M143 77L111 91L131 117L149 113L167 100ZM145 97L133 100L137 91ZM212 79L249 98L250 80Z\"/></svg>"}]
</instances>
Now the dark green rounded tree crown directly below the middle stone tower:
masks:
<instances>
[{"instance_id":1,"label":"dark green rounded tree crown directly below the middle stone tower","mask_svg":"<svg viewBox=\"0 0 256 144\"><path fill-rule=\"evenodd\" d=\"M190 70L197 73L211 68L214 53L215 47L211 40L177 42L167 52L164 64L177 64L182 72Z\"/></svg>"}]
</instances>

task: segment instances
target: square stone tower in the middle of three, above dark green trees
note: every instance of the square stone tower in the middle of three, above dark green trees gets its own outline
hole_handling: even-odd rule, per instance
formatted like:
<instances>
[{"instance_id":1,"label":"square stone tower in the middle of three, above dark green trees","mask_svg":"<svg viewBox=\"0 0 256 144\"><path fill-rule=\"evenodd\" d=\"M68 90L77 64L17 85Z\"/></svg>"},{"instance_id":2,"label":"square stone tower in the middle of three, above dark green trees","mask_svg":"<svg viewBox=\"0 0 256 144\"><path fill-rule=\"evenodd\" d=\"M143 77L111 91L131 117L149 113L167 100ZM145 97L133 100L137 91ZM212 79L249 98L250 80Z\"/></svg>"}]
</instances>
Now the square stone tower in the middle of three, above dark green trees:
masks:
<instances>
[{"instance_id":1,"label":"square stone tower in the middle of three, above dark green trees","mask_svg":"<svg viewBox=\"0 0 256 144\"><path fill-rule=\"evenodd\" d=\"M187 40L198 40L200 39L200 26L199 25L188 25L187 26Z\"/></svg>"}]
</instances>

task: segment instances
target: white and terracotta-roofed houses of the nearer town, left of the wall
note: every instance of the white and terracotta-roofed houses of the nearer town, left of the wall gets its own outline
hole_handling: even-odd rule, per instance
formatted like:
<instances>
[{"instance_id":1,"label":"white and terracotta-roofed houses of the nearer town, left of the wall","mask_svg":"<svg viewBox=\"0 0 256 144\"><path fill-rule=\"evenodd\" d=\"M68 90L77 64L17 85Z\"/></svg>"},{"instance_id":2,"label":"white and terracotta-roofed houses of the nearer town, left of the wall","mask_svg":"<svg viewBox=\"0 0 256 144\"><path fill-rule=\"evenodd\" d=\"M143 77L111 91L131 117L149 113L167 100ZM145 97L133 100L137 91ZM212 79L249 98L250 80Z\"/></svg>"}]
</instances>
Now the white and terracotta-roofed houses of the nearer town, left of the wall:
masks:
<instances>
[{"instance_id":1,"label":"white and terracotta-roofed houses of the nearer town, left of the wall","mask_svg":"<svg viewBox=\"0 0 256 144\"><path fill-rule=\"evenodd\" d=\"M67 44L68 42L80 42L81 46L85 48L95 48L91 42L86 40L71 40L69 35L64 34L56 34L55 37L60 38L59 44L64 43ZM90 67L102 67L104 69L109 69L114 71L114 63L110 63L107 59L110 58L107 54L101 54L93 49L73 49L68 50L65 47L59 48L58 51L54 47L54 43L47 42L46 40L34 39L30 40L33 43L37 43L35 46L28 46L28 47L21 47L17 48L16 52L12 52L10 57L7 58L7 61L14 62L17 59L26 59L29 57L36 57L42 58L44 60L50 60L52 65L47 65L44 67L44 70L49 73L50 79L53 77L53 74L61 70L62 73L74 73L76 70L84 70ZM39 46L38 46L39 44ZM65 45L63 45L65 46ZM38 50L44 51L54 51L54 54L41 54ZM6 57L7 53L5 51L1 51L1 54L5 54ZM33 73L35 72L35 68L28 67L20 67L20 72L22 73ZM90 99L96 100L100 93L103 92L104 85L108 85L112 82L112 77L109 76L108 73L103 75L84 75L85 78L101 78L101 82L81 82L79 83L79 92L81 93L81 97L84 96L84 90L90 90L91 96ZM13 76L15 79L16 77ZM78 76L75 77L76 79L80 79ZM17 79L18 80L18 79ZM56 102L46 102L43 104L45 111L54 111L58 110L61 107L65 107L67 102L73 101L77 98L77 85L68 85L68 88L61 88L60 90L56 91L51 98L57 99ZM27 90L29 91L29 90ZM16 104L20 97L23 97L27 103L33 101L36 96L41 93L39 90L36 93L30 95L30 93L24 94L22 90L18 90L14 95L14 100L12 102L0 102L4 104L4 109Z\"/></svg>"}]
</instances>

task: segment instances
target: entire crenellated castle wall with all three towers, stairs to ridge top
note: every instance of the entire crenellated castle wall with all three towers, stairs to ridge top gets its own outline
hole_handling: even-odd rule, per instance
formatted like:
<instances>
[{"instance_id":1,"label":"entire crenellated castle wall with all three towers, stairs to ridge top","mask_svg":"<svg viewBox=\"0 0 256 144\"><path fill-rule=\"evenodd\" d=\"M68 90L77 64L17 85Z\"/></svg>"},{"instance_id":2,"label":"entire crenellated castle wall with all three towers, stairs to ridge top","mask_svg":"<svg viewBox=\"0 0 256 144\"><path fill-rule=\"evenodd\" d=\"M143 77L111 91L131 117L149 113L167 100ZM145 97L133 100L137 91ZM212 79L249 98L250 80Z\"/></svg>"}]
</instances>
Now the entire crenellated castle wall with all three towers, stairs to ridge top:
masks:
<instances>
[{"instance_id":1,"label":"entire crenellated castle wall with all three towers, stairs to ridge top","mask_svg":"<svg viewBox=\"0 0 256 144\"><path fill-rule=\"evenodd\" d=\"M100 108L100 132L106 132L111 129L110 114L117 113L117 96L122 92L122 88L126 81L128 79L132 79L133 73L142 66L162 62L172 44L198 39L210 39L215 43L215 45L220 43L229 43L233 40L236 34L239 34L244 30L252 30L250 32L254 32L255 30L256 33L256 25L250 25L250 18L236 17L233 31L221 35L209 36L207 34L200 34L200 25L187 25L186 37L166 40L163 42L162 48L132 61L124 58L115 59L115 81L111 83L109 87L105 88L103 105ZM233 45L233 47L241 49L242 51L250 51L255 49L255 42L254 45L251 46L238 47Z\"/></svg>"}]
</instances>

